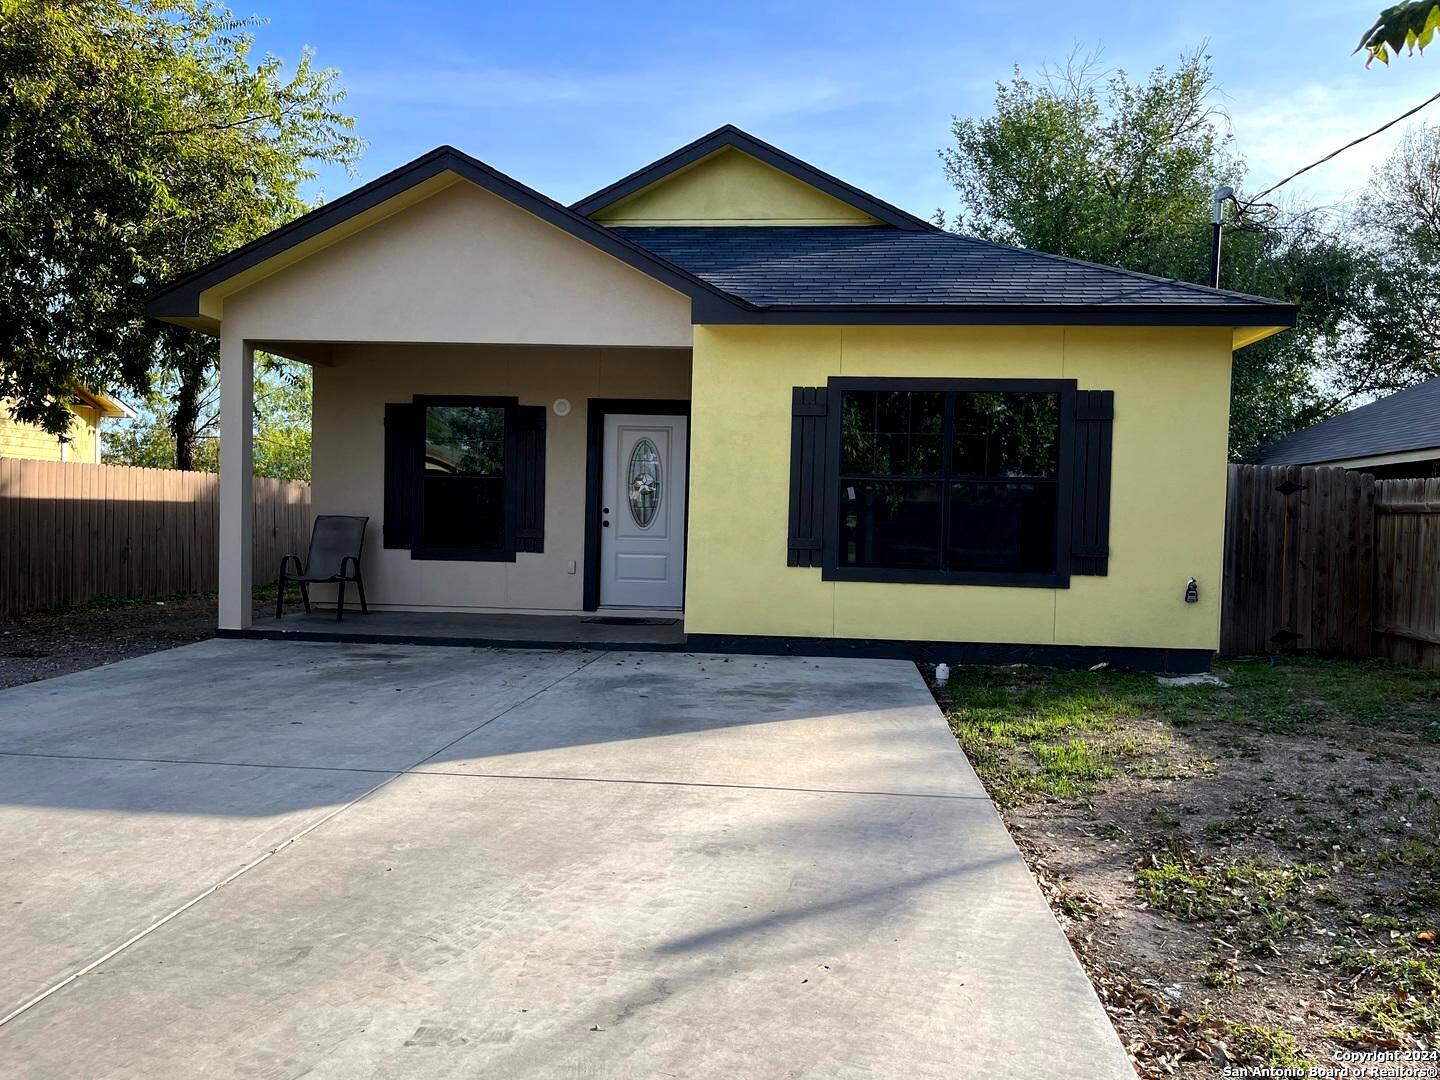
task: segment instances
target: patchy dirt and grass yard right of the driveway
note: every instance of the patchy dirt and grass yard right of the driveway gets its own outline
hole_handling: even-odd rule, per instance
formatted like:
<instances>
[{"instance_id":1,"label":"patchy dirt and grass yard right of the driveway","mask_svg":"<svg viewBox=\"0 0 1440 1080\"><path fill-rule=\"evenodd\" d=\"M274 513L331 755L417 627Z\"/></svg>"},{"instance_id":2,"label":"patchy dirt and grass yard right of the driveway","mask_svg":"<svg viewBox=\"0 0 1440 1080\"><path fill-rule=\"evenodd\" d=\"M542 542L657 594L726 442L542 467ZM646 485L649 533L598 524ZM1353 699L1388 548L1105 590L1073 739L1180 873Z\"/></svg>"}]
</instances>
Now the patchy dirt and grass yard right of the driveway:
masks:
<instances>
[{"instance_id":1,"label":"patchy dirt and grass yard right of the driveway","mask_svg":"<svg viewBox=\"0 0 1440 1080\"><path fill-rule=\"evenodd\" d=\"M959 668L936 697L1142 1076L1440 1064L1440 675L1215 674Z\"/></svg>"}]
</instances>

